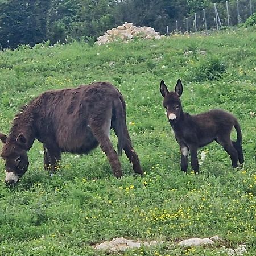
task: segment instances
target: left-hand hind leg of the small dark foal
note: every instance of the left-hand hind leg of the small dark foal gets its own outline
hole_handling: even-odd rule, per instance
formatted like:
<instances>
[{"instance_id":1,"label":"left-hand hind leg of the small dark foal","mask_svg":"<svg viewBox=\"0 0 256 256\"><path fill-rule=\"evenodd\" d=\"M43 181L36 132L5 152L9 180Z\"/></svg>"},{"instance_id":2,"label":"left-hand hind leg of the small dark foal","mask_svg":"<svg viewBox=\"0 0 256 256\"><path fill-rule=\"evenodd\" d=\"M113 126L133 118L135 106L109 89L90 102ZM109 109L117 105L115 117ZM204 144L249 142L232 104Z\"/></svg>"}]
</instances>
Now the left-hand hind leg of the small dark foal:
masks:
<instances>
[{"instance_id":1,"label":"left-hand hind leg of the small dark foal","mask_svg":"<svg viewBox=\"0 0 256 256\"><path fill-rule=\"evenodd\" d=\"M224 147L225 151L230 155L232 167L236 168L238 161L238 152L233 146L232 141L230 140L230 134L218 135L216 141L220 143Z\"/></svg>"}]
</instances>

